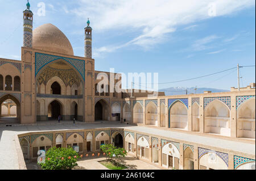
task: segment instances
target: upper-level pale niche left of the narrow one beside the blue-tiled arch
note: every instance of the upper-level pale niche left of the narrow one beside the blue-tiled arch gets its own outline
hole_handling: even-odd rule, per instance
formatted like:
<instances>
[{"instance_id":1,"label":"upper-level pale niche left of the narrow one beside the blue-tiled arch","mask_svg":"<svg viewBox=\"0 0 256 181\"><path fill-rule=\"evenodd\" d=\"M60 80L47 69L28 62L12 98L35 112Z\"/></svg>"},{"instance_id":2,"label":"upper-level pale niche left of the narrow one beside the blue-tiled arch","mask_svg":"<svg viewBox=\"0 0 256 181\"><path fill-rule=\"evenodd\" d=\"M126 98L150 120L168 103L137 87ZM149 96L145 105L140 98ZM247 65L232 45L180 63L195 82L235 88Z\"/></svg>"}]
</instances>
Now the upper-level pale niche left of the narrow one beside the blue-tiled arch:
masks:
<instances>
[{"instance_id":1,"label":"upper-level pale niche left of the narrow one beside the blue-tiled arch","mask_svg":"<svg viewBox=\"0 0 256 181\"><path fill-rule=\"evenodd\" d=\"M153 102L146 106L146 124L158 126L158 108Z\"/></svg>"}]
</instances>

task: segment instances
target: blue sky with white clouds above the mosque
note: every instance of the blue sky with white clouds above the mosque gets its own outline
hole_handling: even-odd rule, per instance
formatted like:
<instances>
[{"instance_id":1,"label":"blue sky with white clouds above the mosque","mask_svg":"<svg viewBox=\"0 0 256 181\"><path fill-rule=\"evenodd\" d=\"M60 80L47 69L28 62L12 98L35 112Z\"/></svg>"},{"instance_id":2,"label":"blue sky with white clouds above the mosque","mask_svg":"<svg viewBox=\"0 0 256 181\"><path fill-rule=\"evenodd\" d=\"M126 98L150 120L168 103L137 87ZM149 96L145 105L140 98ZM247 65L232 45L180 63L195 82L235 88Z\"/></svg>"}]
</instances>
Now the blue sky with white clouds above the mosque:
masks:
<instances>
[{"instance_id":1,"label":"blue sky with white clouds above the mosque","mask_svg":"<svg viewBox=\"0 0 256 181\"><path fill-rule=\"evenodd\" d=\"M0 16L0 57L20 60L27 2L0 2L5 7ZM38 13L40 2L46 5L45 16ZM255 1L31 0L30 4L34 28L54 24L71 41L76 56L84 56L84 27L90 18L96 70L158 73L159 82L173 82L237 64L255 65ZM241 86L255 82L255 68L242 68L241 74ZM229 90L237 87L237 72L159 89L176 86Z\"/></svg>"}]
</instances>

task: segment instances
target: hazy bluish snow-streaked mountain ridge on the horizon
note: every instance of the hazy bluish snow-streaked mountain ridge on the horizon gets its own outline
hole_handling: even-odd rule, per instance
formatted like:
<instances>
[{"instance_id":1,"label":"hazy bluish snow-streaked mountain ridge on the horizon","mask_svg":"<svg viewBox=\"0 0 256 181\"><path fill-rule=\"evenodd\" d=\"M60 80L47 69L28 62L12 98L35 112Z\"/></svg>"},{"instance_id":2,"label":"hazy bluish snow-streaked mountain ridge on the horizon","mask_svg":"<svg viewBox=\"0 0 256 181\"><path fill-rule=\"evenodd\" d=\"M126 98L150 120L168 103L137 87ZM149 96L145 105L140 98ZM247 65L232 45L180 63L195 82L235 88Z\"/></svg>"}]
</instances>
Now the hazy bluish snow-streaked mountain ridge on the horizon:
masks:
<instances>
[{"instance_id":1,"label":"hazy bluish snow-streaked mountain ridge on the horizon","mask_svg":"<svg viewBox=\"0 0 256 181\"><path fill-rule=\"evenodd\" d=\"M230 90L224 90L224 89L213 89L213 88L206 88L206 87L170 87L167 89L161 89L159 91L163 91L166 95L182 95L186 94L186 90L188 90L188 94L202 94L204 91L212 91L212 92L229 92Z\"/></svg>"}]
</instances>

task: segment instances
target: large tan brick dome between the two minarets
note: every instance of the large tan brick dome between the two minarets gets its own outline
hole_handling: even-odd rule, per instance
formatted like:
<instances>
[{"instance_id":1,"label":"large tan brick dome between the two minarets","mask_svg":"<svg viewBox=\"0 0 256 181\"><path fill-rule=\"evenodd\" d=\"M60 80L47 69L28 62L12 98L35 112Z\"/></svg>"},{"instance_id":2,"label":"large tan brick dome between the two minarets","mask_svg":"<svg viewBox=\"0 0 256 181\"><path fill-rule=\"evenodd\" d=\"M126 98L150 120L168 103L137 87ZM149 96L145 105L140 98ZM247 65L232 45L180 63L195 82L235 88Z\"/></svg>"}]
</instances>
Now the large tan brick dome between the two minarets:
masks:
<instances>
[{"instance_id":1,"label":"large tan brick dome between the two minarets","mask_svg":"<svg viewBox=\"0 0 256 181\"><path fill-rule=\"evenodd\" d=\"M50 23L35 28L33 31L32 48L72 56L74 55L73 48L68 38L59 30L59 28Z\"/></svg>"}]
</instances>

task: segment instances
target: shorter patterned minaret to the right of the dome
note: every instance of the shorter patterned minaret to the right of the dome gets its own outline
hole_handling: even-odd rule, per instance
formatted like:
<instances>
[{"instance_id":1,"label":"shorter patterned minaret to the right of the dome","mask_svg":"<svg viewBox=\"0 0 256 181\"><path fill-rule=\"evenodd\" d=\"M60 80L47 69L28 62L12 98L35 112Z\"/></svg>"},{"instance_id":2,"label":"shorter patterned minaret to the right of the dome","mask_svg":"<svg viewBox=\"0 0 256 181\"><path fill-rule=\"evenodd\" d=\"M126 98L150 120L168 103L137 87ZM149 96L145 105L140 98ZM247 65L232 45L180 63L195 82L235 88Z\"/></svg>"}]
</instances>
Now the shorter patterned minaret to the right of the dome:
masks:
<instances>
[{"instance_id":1,"label":"shorter patterned minaret to the right of the dome","mask_svg":"<svg viewBox=\"0 0 256 181\"><path fill-rule=\"evenodd\" d=\"M84 39L84 56L86 58L92 58L92 28L90 27L90 21L88 18L87 27L85 30L85 39Z\"/></svg>"}]
</instances>

